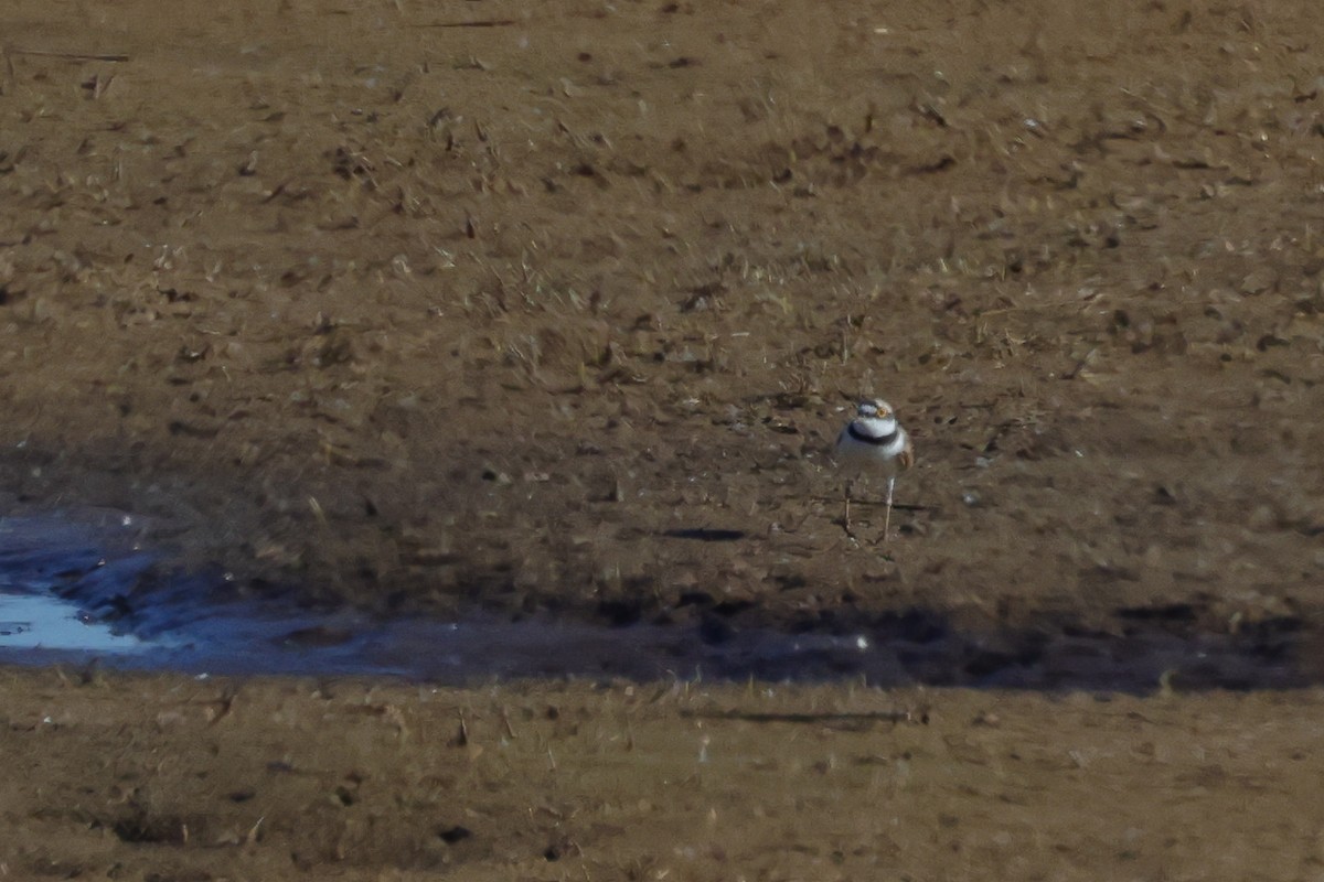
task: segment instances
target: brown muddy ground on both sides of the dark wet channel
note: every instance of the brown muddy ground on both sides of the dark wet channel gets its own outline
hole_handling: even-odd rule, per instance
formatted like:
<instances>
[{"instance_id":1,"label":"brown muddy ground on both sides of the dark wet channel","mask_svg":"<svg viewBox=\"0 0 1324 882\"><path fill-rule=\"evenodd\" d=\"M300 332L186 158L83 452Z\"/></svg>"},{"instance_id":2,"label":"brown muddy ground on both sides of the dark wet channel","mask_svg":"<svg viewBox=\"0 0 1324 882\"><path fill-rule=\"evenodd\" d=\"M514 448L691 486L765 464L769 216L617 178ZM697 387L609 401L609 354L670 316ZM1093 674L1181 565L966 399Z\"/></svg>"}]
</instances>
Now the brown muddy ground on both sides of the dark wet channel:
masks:
<instances>
[{"instance_id":1,"label":"brown muddy ground on both sides of the dark wet channel","mask_svg":"<svg viewBox=\"0 0 1324 882\"><path fill-rule=\"evenodd\" d=\"M1143 624L1320 678L1313 4L13 0L3 33L16 508L148 517L220 594ZM875 394L919 459L886 541L829 456ZM1313 693L944 692L843 734L716 690L741 752L691 767L707 718L622 685L254 681L216 715L216 685L7 677L16 878L1284 878L1324 829ZM539 734L508 752L500 713Z\"/></svg>"}]
</instances>

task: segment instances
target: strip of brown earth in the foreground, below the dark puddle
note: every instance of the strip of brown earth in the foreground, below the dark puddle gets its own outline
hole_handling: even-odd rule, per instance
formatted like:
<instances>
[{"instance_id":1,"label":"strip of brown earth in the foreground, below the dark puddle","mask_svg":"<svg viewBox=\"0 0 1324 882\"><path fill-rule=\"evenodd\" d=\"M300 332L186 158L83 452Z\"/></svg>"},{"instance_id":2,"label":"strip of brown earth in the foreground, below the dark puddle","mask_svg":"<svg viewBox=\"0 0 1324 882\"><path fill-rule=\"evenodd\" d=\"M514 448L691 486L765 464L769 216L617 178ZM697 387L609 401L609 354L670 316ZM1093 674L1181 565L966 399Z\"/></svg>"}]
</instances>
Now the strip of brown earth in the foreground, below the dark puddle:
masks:
<instances>
[{"instance_id":1,"label":"strip of brown earth in the foreground, below the dark puddle","mask_svg":"<svg viewBox=\"0 0 1324 882\"><path fill-rule=\"evenodd\" d=\"M1319 690L457 692L12 670L0 682L0 878L984 882L1324 869Z\"/></svg>"}]
</instances>

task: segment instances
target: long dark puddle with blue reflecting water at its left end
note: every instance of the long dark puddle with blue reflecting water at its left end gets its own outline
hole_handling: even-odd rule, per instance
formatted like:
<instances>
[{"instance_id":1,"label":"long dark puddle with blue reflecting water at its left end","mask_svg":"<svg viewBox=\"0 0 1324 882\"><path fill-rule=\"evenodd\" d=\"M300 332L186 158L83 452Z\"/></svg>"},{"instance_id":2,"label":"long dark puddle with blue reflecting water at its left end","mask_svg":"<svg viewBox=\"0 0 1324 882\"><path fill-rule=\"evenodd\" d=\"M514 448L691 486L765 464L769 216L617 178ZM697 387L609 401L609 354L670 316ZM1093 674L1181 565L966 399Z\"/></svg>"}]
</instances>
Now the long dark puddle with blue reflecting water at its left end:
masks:
<instances>
[{"instance_id":1,"label":"long dark puddle with blue reflecting water at its left end","mask_svg":"<svg viewBox=\"0 0 1324 882\"><path fill-rule=\"evenodd\" d=\"M789 635L718 619L606 627L477 616L458 623L217 602L222 579L163 579L118 512L0 518L0 664L214 674L363 674L465 684L518 677L857 680L873 685L1153 692L1296 688L1292 627L1239 635L1190 616L1123 616L1121 635L956 632L908 611L858 632ZM1180 611L1178 611L1180 612Z\"/></svg>"}]
</instances>

